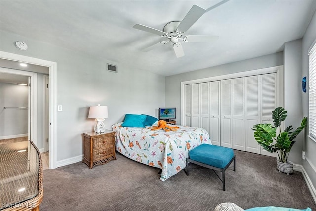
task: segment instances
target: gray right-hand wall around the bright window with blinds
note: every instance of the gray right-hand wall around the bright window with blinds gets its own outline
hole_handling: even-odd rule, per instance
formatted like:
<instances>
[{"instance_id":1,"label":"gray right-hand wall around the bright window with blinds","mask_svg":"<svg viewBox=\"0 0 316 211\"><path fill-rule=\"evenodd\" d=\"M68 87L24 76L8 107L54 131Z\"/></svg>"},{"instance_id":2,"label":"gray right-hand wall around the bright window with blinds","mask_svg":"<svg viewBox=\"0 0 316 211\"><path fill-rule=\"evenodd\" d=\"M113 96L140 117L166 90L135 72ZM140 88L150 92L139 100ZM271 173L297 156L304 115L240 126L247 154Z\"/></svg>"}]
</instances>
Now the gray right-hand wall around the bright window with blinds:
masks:
<instances>
[{"instance_id":1,"label":"gray right-hand wall around the bright window with blinds","mask_svg":"<svg viewBox=\"0 0 316 211\"><path fill-rule=\"evenodd\" d=\"M307 87L309 85L309 58L308 50L312 43L316 40L316 13L303 36L302 39L302 75L307 77ZM308 88L306 93L302 94L303 116L308 116ZM303 167L306 170L313 186L316 187L316 142L311 140L308 135L308 130L305 130L303 150L306 151L306 160L303 160Z\"/></svg>"}]
</instances>

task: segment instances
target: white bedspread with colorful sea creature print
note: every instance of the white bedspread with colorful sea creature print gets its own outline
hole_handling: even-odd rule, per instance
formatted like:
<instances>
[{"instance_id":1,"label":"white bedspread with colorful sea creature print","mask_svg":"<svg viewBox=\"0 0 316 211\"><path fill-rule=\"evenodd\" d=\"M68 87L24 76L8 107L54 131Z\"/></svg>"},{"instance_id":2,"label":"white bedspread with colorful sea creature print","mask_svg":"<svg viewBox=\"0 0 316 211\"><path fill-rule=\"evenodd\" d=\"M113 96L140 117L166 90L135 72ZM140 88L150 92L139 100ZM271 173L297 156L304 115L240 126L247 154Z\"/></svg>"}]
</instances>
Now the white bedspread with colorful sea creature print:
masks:
<instances>
[{"instance_id":1,"label":"white bedspread with colorful sea creature print","mask_svg":"<svg viewBox=\"0 0 316 211\"><path fill-rule=\"evenodd\" d=\"M162 169L164 181L186 166L189 150L200 144L211 144L205 129L179 126L177 131L151 131L149 127L112 126L116 132L116 150L140 163Z\"/></svg>"}]
</instances>

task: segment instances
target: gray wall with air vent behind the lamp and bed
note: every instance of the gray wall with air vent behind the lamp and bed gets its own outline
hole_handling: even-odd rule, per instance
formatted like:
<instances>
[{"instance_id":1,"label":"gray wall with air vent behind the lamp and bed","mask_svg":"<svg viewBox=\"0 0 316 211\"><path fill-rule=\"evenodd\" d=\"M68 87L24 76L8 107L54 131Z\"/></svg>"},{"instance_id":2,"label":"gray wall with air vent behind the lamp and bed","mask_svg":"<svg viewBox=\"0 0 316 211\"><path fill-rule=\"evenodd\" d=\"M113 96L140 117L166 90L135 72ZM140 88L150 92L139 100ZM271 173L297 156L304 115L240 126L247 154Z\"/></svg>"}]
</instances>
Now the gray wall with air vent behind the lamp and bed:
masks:
<instances>
[{"instance_id":1,"label":"gray wall with air vent behind the lamp and bed","mask_svg":"<svg viewBox=\"0 0 316 211\"><path fill-rule=\"evenodd\" d=\"M14 47L18 40L28 43L28 50ZM115 62L118 73L112 73L106 71L106 63L113 64L111 58L92 58L5 31L0 50L57 62L57 105L63 106L57 113L57 161L82 155L82 133L95 125L87 118L91 105L108 106L107 129L126 113L157 117L158 108L165 105L164 77L130 69L123 58Z\"/></svg>"}]
</instances>

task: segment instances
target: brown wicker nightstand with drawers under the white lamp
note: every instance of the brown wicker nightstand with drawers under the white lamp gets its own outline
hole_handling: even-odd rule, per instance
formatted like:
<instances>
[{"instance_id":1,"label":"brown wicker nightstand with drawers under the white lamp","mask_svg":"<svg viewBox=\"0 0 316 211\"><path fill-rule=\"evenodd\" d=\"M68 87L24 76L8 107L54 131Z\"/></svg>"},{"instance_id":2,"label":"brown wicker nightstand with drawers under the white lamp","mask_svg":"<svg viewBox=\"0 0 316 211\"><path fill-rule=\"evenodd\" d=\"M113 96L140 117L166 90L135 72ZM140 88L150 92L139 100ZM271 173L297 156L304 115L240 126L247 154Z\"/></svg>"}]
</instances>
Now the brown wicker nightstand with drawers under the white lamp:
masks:
<instances>
[{"instance_id":1,"label":"brown wicker nightstand with drawers under the white lamp","mask_svg":"<svg viewBox=\"0 0 316 211\"><path fill-rule=\"evenodd\" d=\"M115 159L115 132L105 130L103 133L83 133L83 160L90 169Z\"/></svg>"}]
</instances>

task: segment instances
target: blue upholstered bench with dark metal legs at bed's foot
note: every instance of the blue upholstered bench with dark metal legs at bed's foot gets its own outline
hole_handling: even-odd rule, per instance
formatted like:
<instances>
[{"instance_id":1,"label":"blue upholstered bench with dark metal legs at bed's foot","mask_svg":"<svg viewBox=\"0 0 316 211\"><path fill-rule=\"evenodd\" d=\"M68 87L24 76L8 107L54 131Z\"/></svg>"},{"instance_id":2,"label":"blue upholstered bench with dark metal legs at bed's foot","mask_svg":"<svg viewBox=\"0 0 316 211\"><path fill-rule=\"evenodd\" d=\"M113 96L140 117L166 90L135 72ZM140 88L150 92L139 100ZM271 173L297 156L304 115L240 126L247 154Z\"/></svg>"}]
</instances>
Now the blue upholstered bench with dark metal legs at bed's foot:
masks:
<instances>
[{"instance_id":1,"label":"blue upholstered bench with dark metal legs at bed's foot","mask_svg":"<svg viewBox=\"0 0 316 211\"><path fill-rule=\"evenodd\" d=\"M210 144L201 144L196 148L189 151L189 158L187 158L187 166L185 172L189 175L189 163L194 163L199 166L203 166L209 169L218 170L222 172L222 179L217 175L217 177L223 183L223 190L225 190L225 170L234 161L234 171L235 171L235 155L231 148L221 147Z\"/></svg>"}]
</instances>

